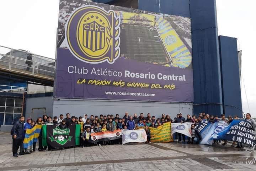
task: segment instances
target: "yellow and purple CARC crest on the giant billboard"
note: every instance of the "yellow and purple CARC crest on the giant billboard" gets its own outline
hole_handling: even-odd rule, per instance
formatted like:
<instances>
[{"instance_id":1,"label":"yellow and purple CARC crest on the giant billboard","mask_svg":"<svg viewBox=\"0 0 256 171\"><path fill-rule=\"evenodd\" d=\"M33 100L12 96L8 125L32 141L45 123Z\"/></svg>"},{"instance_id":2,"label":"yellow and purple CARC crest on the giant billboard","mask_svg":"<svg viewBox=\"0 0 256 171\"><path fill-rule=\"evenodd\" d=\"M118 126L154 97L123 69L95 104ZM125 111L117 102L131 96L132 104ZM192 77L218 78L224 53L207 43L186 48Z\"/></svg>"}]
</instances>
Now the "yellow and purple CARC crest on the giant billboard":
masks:
<instances>
[{"instance_id":1,"label":"yellow and purple CARC crest on the giant billboard","mask_svg":"<svg viewBox=\"0 0 256 171\"><path fill-rule=\"evenodd\" d=\"M112 10L83 6L74 11L66 26L70 52L86 63L114 63L120 55L120 17Z\"/></svg>"}]
</instances>

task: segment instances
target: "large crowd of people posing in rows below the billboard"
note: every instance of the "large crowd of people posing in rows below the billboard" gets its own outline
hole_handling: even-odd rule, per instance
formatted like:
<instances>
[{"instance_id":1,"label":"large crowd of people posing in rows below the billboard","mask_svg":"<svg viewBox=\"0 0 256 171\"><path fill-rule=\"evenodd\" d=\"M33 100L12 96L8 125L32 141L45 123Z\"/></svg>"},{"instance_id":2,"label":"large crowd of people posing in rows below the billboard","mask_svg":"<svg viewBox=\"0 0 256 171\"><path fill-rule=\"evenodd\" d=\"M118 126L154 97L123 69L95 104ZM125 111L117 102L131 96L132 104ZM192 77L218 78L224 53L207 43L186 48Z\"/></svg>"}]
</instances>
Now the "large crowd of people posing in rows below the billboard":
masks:
<instances>
[{"instance_id":1,"label":"large crowd of people posing in rows below the billboard","mask_svg":"<svg viewBox=\"0 0 256 171\"><path fill-rule=\"evenodd\" d=\"M239 119L238 116L234 116L234 119ZM193 115L187 115L187 118L185 119L182 116L182 113L177 114L177 117L172 120L170 118L170 115L162 114L161 118L156 118L155 116L151 116L150 113L144 117L143 113L140 113L139 117L136 113L133 115L130 115L126 112L123 118L119 118L119 114L114 115L100 115L99 117L96 115L90 115L90 117L85 114L84 116L80 116L77 118L76 116L71 116L70 114L66 114L66 118L64 118L63 114L59 115L59 118L57 116L54 116L53 119L51 116L43 115L42 117L37 118L36 121L34 121L32 118L28 118L26 122L25 117L21 116L20 119L14 124L11 130L12 135L12 152L13 156L18 156L17 151L18 148L20 148L19 155L24 154L31 154L36 151L36 143L33 143L32 146L30 146L29 150L27 148L23 148L22 143L23 139L25 137L25 133L27 129L32 129L35 125L56 125L59 126L60 129L65 129L66 127L70 125L81 125L80 130L80 146L90 146L93 145L91 143L91 133L95 132L106 132L106 131L114 131L117 129L127 129L127 130L135 130L136 126L143 127L147 134L147 143L150 143L150 129L149 127L157 128L161 126L162 124L166 122L172 122L172 123L182 123L182 122L192 122L191 125L191 132L192 132L192 138L188 139L188 143L194 143L194 138L197 137L198 132L196 127L200 124L207 124L208 122L218 122L218 121L225 121L228 124L230 124L233 121L232 116L228 116L228 119L225 119L225 115L221 115L221 119L218 118L218 116L213 116L206 114L205 112L199 113L199 115L196 117ZM251 115L249 113L246 114L246 119L249 121L254 128L256 128L256 122L254 119L251 119ZM182 135L181 133L176 133L175 137L177 138L176 141L181 142L181 136L183 137L183 142L186 141L185 135ZM198 141L197 141L198 142ZM105 142L98 142L94 143L98 146L106 145L106 144L119 144L120 141L105 141ZM219 141L214 141L214 143L219 143ZM38 150L39 151L45 151L47 147L42 146L42 131L40 132L40 135L38 137ZM224 141L223 145L226 144L226 141ZM234 145L235 143L233 143ZM243 148L242 144L238 144L238 147ZM51 150L52 147L48 144L48 150Z\"/></svg>"}]
</instances>

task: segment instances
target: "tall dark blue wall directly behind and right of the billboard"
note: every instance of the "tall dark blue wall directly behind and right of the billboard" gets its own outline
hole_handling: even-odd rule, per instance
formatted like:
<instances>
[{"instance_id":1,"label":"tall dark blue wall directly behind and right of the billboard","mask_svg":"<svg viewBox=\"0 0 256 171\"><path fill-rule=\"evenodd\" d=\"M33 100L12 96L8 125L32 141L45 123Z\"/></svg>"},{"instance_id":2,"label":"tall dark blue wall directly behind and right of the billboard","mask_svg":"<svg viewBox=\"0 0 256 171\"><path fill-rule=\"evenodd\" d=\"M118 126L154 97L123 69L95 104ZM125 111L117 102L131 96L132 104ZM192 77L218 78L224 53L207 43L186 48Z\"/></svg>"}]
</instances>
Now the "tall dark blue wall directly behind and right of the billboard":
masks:
<instances>
[{"instance_id":1,"label":"tall dark blue wall directly behind and right of the billboard","mask_svg":"<svg viewBox=\"0 0 256 171\"><path fill-rule=\"evenodd\" d=\"M216 1L139 0L138 6L141 10L191 17L194 114L222 114Z\"/></svg>"}]
</instances>

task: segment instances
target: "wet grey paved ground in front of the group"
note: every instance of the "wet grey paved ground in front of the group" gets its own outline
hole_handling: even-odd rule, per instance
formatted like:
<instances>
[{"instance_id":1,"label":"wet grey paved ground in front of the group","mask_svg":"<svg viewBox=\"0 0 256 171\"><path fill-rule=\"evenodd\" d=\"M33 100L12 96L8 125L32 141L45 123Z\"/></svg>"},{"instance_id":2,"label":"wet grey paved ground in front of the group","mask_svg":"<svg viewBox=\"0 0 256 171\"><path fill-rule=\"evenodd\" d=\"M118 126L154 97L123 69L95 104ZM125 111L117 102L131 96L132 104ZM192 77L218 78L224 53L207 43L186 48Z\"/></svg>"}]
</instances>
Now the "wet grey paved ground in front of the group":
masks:
<instances>
[{"instance_id":1,"label":"wet grey paved ground in front of the group","mask_svg":"<svg viewBox=\"0 0 256 171\"><path fill-rule=\"evenodd\" d=\"M177 142L70 148L12 157L0 132L0 170L256 170L256 152Z\"/></svg>"}]
</instances>

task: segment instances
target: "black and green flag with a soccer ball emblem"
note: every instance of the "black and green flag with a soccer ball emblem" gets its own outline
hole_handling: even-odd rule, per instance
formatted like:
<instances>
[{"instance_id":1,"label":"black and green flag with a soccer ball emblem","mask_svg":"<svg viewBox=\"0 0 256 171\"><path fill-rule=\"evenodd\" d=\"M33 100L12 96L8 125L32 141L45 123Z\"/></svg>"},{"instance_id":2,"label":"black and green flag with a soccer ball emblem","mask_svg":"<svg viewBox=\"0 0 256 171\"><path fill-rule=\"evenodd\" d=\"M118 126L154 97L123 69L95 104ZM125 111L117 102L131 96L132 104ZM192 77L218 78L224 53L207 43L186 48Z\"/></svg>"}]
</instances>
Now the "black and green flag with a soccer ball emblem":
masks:
<instances>
[{"instance_id":1,"label":"black and green flag with a soccer ball emblem","mask_svg":"<svg viewBox=\"0 0 256 171\"><path fill-rule=\"evenodd\" d=\"M49 144L55 148L77 146L80 143L80 130L80 125L70 125L65 129L60 129L56 125L43 125L42 144Z\"/></svg>"}]
</instances>

